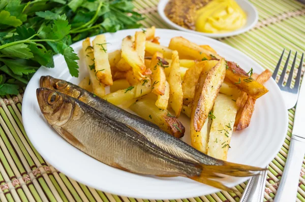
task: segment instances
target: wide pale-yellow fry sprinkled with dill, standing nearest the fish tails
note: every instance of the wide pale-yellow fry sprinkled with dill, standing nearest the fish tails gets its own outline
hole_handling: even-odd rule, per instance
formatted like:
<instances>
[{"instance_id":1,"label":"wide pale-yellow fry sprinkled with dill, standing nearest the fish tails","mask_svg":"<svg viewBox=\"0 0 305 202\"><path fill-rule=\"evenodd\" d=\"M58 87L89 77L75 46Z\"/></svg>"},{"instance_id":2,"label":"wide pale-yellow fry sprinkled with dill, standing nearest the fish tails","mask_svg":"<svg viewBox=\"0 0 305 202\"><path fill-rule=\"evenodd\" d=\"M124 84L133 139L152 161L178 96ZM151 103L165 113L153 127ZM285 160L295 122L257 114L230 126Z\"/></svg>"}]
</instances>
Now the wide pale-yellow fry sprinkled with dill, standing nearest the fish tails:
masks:
<instances>
[{"instance_id":1,"label":"wide pale-yellow fry sprinkled with dill, standing nearest the fish tails","mask_svg":"<svg viewBox=\"0 0 305 202\"><path fill-rule=\"evenodd\" d=\"M237 106L230 96L218 94L209 132L207 155L226 160L233 132Z\"/></svg>"}]
</instances>

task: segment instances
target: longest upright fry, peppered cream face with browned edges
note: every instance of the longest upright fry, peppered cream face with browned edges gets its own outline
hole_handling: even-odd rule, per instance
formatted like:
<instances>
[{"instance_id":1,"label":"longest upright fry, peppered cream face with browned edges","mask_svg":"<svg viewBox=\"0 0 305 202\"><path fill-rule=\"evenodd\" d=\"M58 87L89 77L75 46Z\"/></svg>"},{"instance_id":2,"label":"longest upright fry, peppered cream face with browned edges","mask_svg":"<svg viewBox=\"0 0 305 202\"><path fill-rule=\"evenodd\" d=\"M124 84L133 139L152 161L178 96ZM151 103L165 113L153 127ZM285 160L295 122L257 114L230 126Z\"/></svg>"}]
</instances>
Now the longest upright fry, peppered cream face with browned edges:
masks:
<instances>
[{"instance_id":1,"label":"longest upright fry, peppered cream face with browned edges","mask_svg":"<svg viewBox=\"0 0 305 202\"><path fill-rule=\"evenodd\" d=\"M201 73L192 106L191 119L194 119L194 129L196 131L201 130L209 112L212 110L225 74L226 63L223 58L207 74L204 71Z\"/></svg>"}]
</instances>

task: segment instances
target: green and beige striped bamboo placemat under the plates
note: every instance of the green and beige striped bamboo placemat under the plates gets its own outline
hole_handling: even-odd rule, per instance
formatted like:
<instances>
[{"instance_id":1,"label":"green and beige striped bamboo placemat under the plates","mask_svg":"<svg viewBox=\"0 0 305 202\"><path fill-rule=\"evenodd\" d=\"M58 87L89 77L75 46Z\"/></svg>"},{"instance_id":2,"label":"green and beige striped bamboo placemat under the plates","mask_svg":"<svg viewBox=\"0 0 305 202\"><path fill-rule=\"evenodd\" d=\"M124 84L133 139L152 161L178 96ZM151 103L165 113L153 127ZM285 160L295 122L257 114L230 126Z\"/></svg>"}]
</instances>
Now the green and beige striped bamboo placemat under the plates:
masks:
<instances>
[{"instance_id":1,"label":"green and beige striped bamboo placemat under the plates","mask_svg":"<svg viewBox=\"0 0 305 202\"><path fill-rule=\"evenodd\" d=\"M305 52L305 5L294 0L251 2L259 11L259 23L256 27L242 35L220 41L241 50L270 71L275 68L283 48ZM146 17L144 26L168 28L157 13L157 4L158 0L134 1L136 10ZM297 60L298 63L300 57ZM26 136L21 116L23 90L17 96L7 95L0 98L0 201L162 202L105 193L58 172L40 156ZM289 149L294 112L294 108L288 111L289 127L285 142L268 166L264 201L272 201L277 192ZM305 201L304 162L305 160L299 177L296 201ZM247 182L236 186L234 193L221 191L194 198L163 201L238 201L246 184Z\"/></svg>"}]
</instances>

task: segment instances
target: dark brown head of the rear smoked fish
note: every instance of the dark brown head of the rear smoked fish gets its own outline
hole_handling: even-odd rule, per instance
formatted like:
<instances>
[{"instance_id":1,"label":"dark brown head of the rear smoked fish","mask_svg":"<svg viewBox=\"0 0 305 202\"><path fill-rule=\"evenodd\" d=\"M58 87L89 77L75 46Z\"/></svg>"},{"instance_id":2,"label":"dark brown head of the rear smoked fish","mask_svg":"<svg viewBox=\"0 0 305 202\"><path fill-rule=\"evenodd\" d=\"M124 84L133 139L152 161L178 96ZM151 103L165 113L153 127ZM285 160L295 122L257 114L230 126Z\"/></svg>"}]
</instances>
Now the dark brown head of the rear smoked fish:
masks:
<instances>
[{"instance_id":1,"label":"dark brown head of the rear smoked fish","mask_svg":"<svg viewBox=\"0 0 305 202\"><path fill-rule=\"evenodd\" d=\"M51 76L40 77L40 87L56 90L74 98L78 98L81 94L80 89L72 87L69 82Z\"/></svg>"}]
</instances>

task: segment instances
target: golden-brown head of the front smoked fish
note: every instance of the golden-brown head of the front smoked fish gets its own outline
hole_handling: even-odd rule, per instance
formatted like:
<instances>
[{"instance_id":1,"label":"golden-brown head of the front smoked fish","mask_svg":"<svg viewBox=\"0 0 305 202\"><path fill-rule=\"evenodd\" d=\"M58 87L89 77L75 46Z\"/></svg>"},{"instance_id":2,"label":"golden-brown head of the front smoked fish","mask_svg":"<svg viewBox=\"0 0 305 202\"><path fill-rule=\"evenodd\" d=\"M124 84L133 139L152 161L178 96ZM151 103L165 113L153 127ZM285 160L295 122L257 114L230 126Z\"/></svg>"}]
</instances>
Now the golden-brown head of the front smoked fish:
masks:
<instances>
[{"instance_id":1,"label":"golden-brown head of the front smoked fish","mask_svg":"<svg viewBox=\"0 0 305 202\"><path fill-rule=\"evenodd\" d=\"M47 88L38 88L36 96L42 114L51 125L61 126L70 119L74 102L69 96Z\"/></svg>"}]
</instances>

